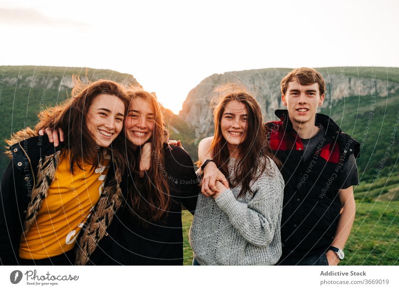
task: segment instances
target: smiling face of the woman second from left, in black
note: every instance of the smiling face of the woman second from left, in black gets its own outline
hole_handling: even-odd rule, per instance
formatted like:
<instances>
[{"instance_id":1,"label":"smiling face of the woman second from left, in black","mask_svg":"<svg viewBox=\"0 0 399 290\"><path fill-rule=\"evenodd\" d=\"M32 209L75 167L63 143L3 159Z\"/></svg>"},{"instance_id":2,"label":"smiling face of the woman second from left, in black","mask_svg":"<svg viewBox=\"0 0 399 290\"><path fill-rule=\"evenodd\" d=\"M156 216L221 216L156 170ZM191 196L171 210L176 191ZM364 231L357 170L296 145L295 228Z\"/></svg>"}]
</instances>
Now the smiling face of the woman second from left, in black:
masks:
<instances>
[{"instance_id":1,"label":"smiling face of the woman second from left, in black","mask_svg":"<svg viewBox=\"0 0 399 290\"><path fill-rule=\"evenodd\" d=\"M145 144L153 135L154 108L144 98L134 98L125 120L125 135L134 147Z\"/></svg>"}]
</instances>

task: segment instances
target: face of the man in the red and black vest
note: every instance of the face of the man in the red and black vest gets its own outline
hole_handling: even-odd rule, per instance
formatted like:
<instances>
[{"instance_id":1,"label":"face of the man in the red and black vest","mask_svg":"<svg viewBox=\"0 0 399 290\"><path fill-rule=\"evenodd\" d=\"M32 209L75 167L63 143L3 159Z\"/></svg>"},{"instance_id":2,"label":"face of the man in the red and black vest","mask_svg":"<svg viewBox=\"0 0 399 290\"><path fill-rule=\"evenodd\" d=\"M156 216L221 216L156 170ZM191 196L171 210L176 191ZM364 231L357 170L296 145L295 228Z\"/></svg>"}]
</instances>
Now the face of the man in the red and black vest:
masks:
<instances>
[{"instance_id":1,"label":"face of the man in the red and black vest","mask_svg":"<svg viewBox=\"0 0 399 290\"><path fill-rule=\"evenodd\" d=\"M294 128L314 126L317 107L324 101L319 85L301 85L298 81L288 83L285 95L281 97L287 107L288 116Z\"/></svg>"}]
</instances>

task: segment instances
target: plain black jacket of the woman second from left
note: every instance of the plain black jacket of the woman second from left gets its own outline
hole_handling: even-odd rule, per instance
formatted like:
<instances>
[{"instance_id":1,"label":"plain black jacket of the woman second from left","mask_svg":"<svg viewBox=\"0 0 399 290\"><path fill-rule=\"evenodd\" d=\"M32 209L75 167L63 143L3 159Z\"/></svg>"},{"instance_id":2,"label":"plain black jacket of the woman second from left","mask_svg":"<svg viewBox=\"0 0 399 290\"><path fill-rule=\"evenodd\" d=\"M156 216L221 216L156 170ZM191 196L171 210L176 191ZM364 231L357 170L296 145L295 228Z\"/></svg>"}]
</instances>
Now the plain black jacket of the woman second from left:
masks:
<instances>
[{"instance_id":1,"label":"plain black jacket of the woman second from left","mask_svg":"<svg viewBox=\"0 0 399 290\"><path fill-rule=\"evenodd\" d=\"M173 200L167 217L162 222L146 221L143 225L125 200L107 236L90 257L92 264L183 265L182 206L194 213L200 188L189 154L180 147L171 148L164 148L163 172L168 176ZM121 185L125 197L131 186L131 176L125 174Z\"/></svg>"}]
</instances>

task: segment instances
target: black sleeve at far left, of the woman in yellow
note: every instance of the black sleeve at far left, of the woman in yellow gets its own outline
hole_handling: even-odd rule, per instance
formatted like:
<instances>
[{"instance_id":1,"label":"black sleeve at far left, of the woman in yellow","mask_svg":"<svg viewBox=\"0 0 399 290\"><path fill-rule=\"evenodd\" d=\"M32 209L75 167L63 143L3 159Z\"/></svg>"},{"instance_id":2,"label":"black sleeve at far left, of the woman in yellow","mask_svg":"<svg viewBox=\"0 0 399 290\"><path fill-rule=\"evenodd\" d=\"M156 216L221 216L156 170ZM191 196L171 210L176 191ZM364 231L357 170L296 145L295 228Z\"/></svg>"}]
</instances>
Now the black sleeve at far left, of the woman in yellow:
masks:
<instances>
[{"instance_id":1,"label":"black sleeve at far left, of the woman in yellow","mask_svg":"<svg viewBox=\"0 0 399 290\"><path fill-rule=\"evenodd\" d=\"M12 160L1 179L0 186L0 264L18 265L21 222L16 194L22 190L20 172Z\"/></svg>"}]
</instances>

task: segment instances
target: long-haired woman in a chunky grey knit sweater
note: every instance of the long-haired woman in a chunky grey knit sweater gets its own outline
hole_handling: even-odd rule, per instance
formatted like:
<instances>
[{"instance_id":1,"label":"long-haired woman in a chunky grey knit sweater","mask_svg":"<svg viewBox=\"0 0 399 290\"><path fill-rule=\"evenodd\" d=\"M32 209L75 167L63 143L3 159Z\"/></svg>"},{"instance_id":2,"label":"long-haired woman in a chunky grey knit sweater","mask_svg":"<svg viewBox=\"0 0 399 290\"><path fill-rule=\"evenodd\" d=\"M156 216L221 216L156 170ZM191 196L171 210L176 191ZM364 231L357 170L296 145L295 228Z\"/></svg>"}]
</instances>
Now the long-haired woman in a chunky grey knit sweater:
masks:
<instances>
[{"instance_id":1,"label":"long-haired woman in a chunky grey knit sweater","mask_svg":"<svg viewBox=\"0 0 399 290\"><path fill-rule=\"evenodd\" d=\"M193 265L274 265L281 256L279 161L267 145L256 99L235 84L215 91L213 159L202 166L214 162L227 183L217 181L217 193L199 196L190 230Z\"/></svg>"}]
</instances>

